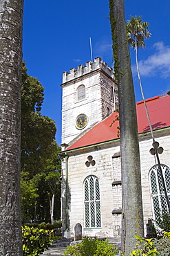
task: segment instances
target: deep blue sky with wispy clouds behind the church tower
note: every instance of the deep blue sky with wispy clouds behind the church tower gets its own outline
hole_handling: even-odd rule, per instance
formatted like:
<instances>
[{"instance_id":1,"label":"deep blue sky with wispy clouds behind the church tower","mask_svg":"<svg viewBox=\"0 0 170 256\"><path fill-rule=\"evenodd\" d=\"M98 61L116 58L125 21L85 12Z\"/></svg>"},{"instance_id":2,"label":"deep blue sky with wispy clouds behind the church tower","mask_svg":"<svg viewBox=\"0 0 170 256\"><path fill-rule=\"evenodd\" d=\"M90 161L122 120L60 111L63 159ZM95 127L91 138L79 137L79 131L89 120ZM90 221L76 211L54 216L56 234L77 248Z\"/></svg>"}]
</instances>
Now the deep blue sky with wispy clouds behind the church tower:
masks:
<instances>
[{"instance_id":1,"label":"deep blue sky with wispy clouds behind the church tower","mask_svg":"<svg viewBox=\"0 0 170 256\"><path fill-rule=\"evenodd\" d=\"M139 50L145 98L170 90L170 1L125 0L126 19L141 15L149 22L151 38ZM25 0L23 15L23 60L28 74L45 88L42 115L56 122L56 142L61 143L62 73L102 57L111 66L111 30L108 0ZM131 49L136 101L142 100Z\"/></svg>"}]
</instances>

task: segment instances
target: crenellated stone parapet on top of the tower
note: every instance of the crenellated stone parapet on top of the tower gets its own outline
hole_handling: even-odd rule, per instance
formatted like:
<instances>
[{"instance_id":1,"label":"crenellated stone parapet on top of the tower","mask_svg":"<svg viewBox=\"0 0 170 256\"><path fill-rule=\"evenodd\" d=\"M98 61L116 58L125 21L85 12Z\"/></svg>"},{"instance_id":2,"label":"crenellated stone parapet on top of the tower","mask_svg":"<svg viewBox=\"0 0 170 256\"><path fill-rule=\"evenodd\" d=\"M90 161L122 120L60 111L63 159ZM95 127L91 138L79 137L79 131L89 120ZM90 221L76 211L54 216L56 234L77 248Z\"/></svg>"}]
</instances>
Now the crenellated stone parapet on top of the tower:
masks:
<instances>
[{"instance_id":1,"label":"crenellated stone parapet on top of the tower","mask_svg":"<svg viewBox=\"0 0 170 256\"><path fill-rule=\"evenodd\" d=\"M85 75L98 69L102 69L103 71L105 71L105 73L107 73L107 75L114 78L113 68L108 67L107 63L103 62L100 57L96 57L96 59L94 59L94 62L89 61L85 63L85 66L79 65L77 69L72 68L70 69L70 73L64 72L63 84L77 77L81 77L81 75Z\"/></svg>"}]
</instances>

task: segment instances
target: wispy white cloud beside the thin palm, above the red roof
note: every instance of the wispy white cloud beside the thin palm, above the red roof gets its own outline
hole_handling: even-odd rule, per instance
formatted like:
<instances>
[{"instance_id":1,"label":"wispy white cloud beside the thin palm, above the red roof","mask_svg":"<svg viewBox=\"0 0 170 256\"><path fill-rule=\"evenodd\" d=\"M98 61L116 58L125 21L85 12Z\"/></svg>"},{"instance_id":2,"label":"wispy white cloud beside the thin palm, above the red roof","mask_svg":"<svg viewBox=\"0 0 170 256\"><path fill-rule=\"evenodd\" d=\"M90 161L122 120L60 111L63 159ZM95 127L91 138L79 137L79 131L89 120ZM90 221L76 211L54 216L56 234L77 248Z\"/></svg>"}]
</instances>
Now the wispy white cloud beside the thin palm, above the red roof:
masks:
<instances>
[{"instance_id":1,"label":"wispy white cloud beside the thin palm, above the red roof","mask_svg":"<svg viewBox=\"0 0 170 256\"><path fill-rule=\"evenodd\" d=\"M153 45L155 53L147 58L140 60L140 75L145 77L160 76L164 79L170 77L170 46L165 46L163 42ZM136 67L132 67L136 72Z\"/></svg>"}]
</instances>

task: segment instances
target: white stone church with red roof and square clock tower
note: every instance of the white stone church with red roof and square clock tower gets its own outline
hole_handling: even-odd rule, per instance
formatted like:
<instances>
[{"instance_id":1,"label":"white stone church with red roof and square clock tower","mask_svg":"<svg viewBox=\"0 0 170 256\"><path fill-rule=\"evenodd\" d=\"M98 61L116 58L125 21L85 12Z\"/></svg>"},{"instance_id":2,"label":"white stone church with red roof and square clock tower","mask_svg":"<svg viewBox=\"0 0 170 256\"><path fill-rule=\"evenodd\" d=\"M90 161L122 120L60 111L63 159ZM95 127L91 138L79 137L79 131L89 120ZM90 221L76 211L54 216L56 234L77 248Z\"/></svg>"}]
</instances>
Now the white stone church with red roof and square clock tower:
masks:
<instances>
[{"instance_id":1,"label":"white stone church with red roof and square clock tower","mask_svg":"<svg viewBox=\"0 0 170 256\"><path fill-rule=\"evenodd\" d=\"M79 238L120 238L122 179L113 70L97 57L63 73L61 86L64 236L75 238L78 230ZM170 199L170 97L156 96L146 102ZM137 102L136 109L146 235L148 219L158 218L167 201L143 102Z\"/></svg>"}]
</instances>

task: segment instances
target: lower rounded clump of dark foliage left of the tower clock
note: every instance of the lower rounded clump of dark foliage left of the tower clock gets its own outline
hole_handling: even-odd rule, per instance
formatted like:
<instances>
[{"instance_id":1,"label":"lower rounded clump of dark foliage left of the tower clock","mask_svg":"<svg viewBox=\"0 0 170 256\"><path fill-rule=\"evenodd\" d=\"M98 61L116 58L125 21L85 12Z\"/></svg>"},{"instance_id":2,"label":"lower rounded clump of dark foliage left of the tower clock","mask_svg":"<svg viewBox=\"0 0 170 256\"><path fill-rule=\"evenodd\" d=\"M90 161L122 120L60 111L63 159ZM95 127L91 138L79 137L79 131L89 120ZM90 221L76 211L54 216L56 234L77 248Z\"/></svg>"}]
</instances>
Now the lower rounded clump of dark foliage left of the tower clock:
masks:
<instances>
[{"instance_id":1,"label":"lower rounded clump of dark foliage left of the tower clock","mask_svg":"<svg viewBox=\"0 0 170 256\"><path fill-rule=\"evenodd\" d=\"M30 113L21 126L21 171L30 179L43 172L47 158L56 151L54 121L40 113Z\"/></svg>"}]
</instances>

